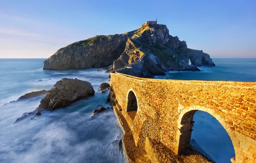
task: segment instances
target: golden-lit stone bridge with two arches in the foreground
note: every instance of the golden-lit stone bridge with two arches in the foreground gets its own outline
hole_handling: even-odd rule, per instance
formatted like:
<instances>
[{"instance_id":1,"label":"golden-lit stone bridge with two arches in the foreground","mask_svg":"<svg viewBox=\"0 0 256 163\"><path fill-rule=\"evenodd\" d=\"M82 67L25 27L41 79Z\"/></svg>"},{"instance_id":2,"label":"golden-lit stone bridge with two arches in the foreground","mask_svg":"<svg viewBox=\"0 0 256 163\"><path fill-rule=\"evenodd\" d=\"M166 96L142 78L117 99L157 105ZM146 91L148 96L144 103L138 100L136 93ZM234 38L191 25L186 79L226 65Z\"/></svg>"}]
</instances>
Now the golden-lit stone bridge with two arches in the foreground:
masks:
<instances>
[{"instance_id":1,"label":"golden-lit stone bridge with two arches in the foreground","mask_svg":"<svg viewBox=\"0 0 256 163\"><path fill-rule=\"evenodd\" d=\"M193 115L201 110L229 134L232 163L256 163L255 82L162 80L116 72L110 85L136 146L150 138L182 154L190 144Z\"/></svg>"}]
</instances>

